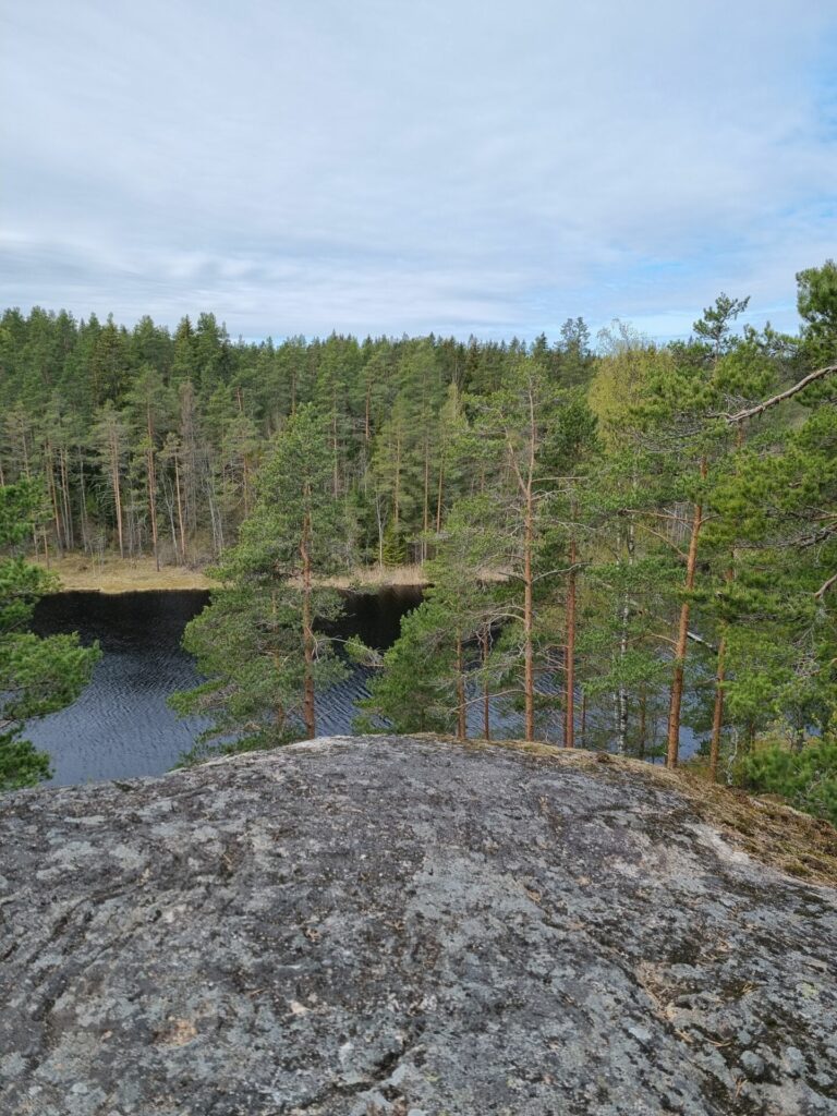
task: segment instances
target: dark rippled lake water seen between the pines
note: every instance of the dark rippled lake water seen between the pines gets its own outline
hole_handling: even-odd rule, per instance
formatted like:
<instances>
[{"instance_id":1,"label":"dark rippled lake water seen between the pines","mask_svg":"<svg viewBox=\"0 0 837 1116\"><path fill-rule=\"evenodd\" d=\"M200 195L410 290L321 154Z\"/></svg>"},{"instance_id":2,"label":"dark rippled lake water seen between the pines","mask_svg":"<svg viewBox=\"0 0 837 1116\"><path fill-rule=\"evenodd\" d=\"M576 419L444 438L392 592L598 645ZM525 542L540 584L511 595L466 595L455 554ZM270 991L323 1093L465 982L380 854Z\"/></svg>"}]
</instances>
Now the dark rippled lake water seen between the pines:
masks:
<instances>
[{"instance_id":1,"label":"dark rippled lake water seen between the pines","mask_svg":"<svg viewBox=\"0 0 837 1116\"><path fill-rule=\"evenodd\" d=\"M40 635L78 632L98 639L104 655L94 679L69 709L35 722L27 737L52 757L54 786L162 775L193 743L203 722L181 720L166 705L175 690L198 682L192 658L180 647L183 628L204 607L206 593L61 593L38 605ZM410 587L348 594L337 635L359 635L385 650L398 636L401 617L421 600ZM354 703L366 693L367 672L318 699L318 731L350 731Z\"/></svg>"}]
</instances>

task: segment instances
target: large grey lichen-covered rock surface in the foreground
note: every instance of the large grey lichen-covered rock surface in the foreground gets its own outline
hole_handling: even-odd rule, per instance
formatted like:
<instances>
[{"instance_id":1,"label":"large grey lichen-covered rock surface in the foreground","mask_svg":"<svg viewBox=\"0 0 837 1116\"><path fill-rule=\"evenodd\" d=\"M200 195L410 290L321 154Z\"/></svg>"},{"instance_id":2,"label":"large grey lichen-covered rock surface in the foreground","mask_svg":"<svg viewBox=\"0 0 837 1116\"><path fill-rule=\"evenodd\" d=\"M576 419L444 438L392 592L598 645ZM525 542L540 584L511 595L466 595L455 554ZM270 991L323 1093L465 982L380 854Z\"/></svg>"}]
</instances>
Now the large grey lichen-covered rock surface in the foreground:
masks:
<instances>
[{"instance_id":1,"label":"large grey lichen-covered rock surface in the foreground","mask_svg":"<svg viewBox=\"0 0 837 1116\"><path fill-rule=\"evenodd\" d=\"M333 738L0 849L4 1116L837 1113L837 892L641 764Z\"/></svg>"}]
</instances>

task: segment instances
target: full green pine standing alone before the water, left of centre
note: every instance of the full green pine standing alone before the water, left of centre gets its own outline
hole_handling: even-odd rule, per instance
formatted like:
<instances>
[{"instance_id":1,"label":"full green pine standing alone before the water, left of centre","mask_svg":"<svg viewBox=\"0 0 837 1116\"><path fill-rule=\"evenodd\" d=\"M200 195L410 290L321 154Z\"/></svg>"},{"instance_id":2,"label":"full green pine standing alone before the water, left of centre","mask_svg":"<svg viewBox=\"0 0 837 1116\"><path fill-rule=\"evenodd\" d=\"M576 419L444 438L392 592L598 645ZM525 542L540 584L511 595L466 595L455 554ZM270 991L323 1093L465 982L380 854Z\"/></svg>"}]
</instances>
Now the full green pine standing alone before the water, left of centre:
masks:
<instances>
[{"instance_id":1,"label":"full green pine standing alone before the water, left of centre","mask_svg":"<svg viewBox=\"0 0 837 1116\"><path fill-rule=\"evenodd\" d=\"M223 587L186 626L183 646L206 681L171 704L212 722L186 762L298 739L311 691L345 676L323 633L341 602L314 580L348 557L331 465L327 423L308 404L277 436L240 541L213 571Z\"/></svg>"}]
</instances>

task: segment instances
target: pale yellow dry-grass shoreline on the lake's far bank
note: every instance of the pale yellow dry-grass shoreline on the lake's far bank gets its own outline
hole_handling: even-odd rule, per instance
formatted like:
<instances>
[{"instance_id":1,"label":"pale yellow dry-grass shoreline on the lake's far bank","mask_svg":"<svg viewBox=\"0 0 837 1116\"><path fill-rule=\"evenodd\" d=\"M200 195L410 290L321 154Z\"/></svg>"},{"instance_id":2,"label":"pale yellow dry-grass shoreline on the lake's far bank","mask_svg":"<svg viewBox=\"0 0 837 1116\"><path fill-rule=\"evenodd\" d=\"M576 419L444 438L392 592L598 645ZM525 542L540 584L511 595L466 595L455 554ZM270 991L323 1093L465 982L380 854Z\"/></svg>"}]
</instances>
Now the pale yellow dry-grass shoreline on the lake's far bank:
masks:
<instances>
[{"instance_id":1,"label":"pale yellow dry-grass shoreline on the lake's far bank","mask_svg":"<svg viewBox=\"0 0 837 1116\"><path fill-rule=\"evenodd\" d=\"M49 567L42 558L29 560L41 569L48 568L58 577L59 593L158 593L165 589L209 591L218 585L200 567L162 566L157 570L154 559L148 557L117 558L106 555L104 558L90 558L67 555L50 558ZM422 586L427 584L427 579L421 566L383 569L372 566L327 578L324 584L335 589L372 590Z\"/></svg>"}]
</instances>

